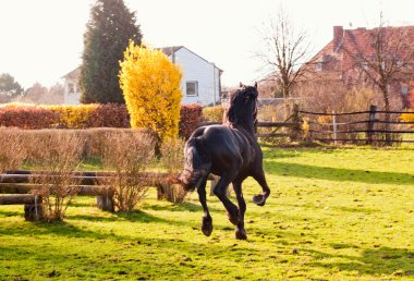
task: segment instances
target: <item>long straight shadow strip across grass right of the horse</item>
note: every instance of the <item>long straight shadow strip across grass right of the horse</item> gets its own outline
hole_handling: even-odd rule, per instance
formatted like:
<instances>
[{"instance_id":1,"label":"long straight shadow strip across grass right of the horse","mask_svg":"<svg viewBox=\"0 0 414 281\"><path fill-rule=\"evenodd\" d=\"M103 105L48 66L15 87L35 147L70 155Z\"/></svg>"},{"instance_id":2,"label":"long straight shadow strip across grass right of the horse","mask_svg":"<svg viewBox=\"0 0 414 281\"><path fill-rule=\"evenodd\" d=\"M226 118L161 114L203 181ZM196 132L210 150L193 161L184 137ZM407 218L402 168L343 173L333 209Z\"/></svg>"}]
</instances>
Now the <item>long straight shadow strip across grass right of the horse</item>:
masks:
<instances>
[{"instance_id":1,"label":"long straight shadow strip across grass right of the horse","mask_svg":"<svg viewBox=\"0 0 414 281\"><path fill-rule=\"evenodd\" d=\"M266 160L265 160L266 162ZM283 176L319 179L340 182L362 182L368 184L414 185L414 175L409 173L375 172L341 168L326 168L300 163L267 162L267 173Z\"/></svg>"}]
</instances>

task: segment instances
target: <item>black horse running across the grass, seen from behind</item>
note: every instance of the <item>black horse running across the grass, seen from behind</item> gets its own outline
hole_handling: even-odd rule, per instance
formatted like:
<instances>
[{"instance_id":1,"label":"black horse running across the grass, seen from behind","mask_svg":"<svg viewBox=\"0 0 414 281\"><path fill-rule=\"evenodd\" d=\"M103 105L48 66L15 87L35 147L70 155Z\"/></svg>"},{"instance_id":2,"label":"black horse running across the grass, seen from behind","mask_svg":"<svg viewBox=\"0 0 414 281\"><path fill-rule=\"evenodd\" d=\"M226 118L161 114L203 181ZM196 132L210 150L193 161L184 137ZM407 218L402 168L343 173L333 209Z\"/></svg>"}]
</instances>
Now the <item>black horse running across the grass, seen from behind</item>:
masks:
<instances>
[{"instance_id":1,"label":"black horse running across the grass, seen from behind","mask_svg":"<svg viewBox=\"0 0 414 281\"><path fill-rule=\"evenodd\" d=\"M224 205L229 220L236 225L236 239L247 237L244 229L246 204L242 193L243 181L253 176L260 184L263 193L253 197L258 206L264 206L270 194L263 171L261 149L255 134L257 95L257 84L253 87L241 84L241 88L230 97L224 124L198 127L185 144L185 164L179 181L186 191L197 188L204 209L202 231L206 236L212 231L206 201L209 173L221 176L214 193ZM233 184L239 208L227 197L230 183Z\"/></svg>"}]
</instances>

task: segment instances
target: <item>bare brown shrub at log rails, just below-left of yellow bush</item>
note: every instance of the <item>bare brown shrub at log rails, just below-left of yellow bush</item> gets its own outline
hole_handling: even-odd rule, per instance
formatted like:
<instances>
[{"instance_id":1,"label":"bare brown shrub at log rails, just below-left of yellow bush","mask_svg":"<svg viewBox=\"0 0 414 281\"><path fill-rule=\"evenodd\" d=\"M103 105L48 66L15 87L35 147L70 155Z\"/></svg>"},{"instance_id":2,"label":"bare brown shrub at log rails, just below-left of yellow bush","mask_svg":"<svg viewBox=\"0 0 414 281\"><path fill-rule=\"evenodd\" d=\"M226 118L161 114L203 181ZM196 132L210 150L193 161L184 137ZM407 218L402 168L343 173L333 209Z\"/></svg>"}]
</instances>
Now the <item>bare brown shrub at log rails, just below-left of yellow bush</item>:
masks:
<instances>
[{"instance_id":1,"label":"bare brown shrub at log rails, just below-left of yellow bush","mask_svg":"<svg viewBox=\"0 0 414 281\"><path fill-rule=\"evenodd\" d=\"M114 207L132 211L148 191L141 172L154 160L154 137L142 131L107 133L102 144L104 166L114 176L104 180L113 186Z\"/></svg>"}]
</instances>

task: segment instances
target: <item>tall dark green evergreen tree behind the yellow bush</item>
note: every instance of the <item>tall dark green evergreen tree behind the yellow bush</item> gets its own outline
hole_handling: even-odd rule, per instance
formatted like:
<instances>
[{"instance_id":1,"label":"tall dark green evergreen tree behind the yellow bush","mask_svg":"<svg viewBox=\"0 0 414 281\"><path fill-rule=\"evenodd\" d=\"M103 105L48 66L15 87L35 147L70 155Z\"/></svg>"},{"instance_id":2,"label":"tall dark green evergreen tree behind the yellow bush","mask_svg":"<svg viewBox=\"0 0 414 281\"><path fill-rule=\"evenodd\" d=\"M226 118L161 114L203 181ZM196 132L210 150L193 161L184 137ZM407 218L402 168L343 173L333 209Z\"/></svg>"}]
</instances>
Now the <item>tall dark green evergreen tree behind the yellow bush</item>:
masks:
<instances>
[{"instance_id":1,"label":"tall dark green evergreen tree behind the yellow bush","mask_svg":"<svg viewBox=\"0 0 414 281\"><path fill-rule=\"evenodd\" d=\"M135 12L123 0L97 0L84 34L80 85L82 103L125 102L119 85L120 60L129 40L141 45Z\"/></svg>"}]
</instances>

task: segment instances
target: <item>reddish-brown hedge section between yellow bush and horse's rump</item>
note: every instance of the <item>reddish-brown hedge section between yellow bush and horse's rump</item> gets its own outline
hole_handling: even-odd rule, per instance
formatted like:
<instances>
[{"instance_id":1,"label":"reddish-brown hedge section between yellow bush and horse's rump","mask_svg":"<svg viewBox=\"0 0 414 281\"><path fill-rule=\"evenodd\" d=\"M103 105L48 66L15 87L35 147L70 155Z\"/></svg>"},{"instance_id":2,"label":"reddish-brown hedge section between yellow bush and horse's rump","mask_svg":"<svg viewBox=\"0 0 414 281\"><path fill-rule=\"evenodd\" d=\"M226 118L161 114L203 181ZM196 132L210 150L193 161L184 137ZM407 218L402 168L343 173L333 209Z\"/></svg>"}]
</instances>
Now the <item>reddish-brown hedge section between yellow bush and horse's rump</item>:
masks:
<instances>
[{"instance_id":1,"label":"reddish-brown hedge section between yellow bush and horse's rump","mask_svg":"<svg viewBox=\"0 0 414 281\"><path fill-rule=\"evenodd\" d=\"M203 122L203 108L198 105L181 106L180 111L180 136L185 139L191 136L198 123Z\"/></svg>"}]
</instances>

